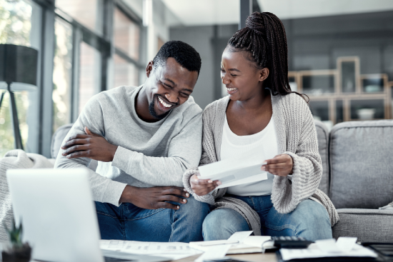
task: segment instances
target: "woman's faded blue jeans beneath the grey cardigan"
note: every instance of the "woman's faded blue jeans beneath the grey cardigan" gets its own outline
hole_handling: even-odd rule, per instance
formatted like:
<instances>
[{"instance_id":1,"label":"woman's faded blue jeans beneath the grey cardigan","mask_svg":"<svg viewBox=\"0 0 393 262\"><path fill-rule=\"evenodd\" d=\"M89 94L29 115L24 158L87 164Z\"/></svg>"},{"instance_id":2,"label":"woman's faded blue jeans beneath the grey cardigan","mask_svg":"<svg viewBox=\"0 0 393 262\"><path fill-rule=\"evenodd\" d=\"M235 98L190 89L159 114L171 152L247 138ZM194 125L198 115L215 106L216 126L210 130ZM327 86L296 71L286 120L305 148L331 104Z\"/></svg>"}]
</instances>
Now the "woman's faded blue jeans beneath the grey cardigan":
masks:
<instances>
[{"instance_id":1,"label":"woman's faded blue jeans beneath the grey cardigan","mask_svg":"<svg viewBox=\"0 0 393 262\"><path fill-rule=\"evenodd\" d=\"M278 213L270 196L230 196L246 202L257 211L264 236L298 236L309 241L332 238L332 226L326 208L311 199L302 201L290 213ZM203 224L205 241L228 239L235 232L249 230L243 216L229 208L212 211Z\"/></svg>"}]
</instances>

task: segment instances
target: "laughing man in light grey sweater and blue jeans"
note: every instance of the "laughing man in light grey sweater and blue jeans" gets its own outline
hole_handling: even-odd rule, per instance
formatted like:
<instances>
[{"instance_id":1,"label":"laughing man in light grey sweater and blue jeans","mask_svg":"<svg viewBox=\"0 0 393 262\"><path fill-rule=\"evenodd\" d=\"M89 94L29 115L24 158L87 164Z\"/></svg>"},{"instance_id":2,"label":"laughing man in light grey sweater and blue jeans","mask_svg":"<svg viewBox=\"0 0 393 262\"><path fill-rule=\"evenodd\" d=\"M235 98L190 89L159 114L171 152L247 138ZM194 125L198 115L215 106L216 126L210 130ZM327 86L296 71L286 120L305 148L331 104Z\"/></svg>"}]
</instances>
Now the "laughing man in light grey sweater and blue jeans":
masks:
<instances>
[{"instance_id":1,"label":"laughing man in light grey sweater and blue jeans","mask_svg":"<svg viewBox=\"0 0 393 262\"><path fill-rule=\"evenodd\" d=\"M203 240L209 207L181 181L202 153L202 109L190 96L200 68L194 48L167 42L147 65L143 86L91 98L64 139L56 168L99 161L89 178L101 238Z\"/></svg>"}]
</instances>

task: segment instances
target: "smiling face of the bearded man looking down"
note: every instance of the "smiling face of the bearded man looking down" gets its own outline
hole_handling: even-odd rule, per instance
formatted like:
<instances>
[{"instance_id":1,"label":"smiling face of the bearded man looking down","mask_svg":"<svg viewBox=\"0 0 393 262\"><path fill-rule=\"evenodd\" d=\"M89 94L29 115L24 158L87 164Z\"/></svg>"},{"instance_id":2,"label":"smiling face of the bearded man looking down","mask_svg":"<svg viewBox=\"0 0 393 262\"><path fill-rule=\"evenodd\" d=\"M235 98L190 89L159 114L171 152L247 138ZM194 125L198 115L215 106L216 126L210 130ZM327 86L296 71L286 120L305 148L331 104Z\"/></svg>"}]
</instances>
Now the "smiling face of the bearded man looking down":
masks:
<instances>
[{"instance_id":1,"label":"smiling face of the bearded man looking down","mask_svg":"<svg viewBox=\"0 0 393 262\"><path fill-rule=\"evenodd\" d=\"M146 76L149 112L155 119L163 119L169 111L189 99L197 84L198 72L184 69L169 57L164 66L154 68L152 61L149 62Z\"/></svg>"}]
</instances>

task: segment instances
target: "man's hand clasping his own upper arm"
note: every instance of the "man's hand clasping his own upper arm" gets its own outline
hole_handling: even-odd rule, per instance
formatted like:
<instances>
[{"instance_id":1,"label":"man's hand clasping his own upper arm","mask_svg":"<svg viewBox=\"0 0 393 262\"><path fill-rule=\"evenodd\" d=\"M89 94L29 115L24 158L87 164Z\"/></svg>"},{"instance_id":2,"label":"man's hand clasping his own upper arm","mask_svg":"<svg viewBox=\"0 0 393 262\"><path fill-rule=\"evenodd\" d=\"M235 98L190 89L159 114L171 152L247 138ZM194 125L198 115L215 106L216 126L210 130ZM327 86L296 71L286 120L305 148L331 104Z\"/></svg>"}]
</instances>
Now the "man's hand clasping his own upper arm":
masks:
<instances>
[{"instance_id":1,"label":"man's hand clasping his own upper arm","mask_svg":"<svg viewBox=\"0 0 393 262\"><path fill-rule=\"evenodd\" d=\"M77 134L66 140L61 149L63 156L67 158L87 157L98 161L110 162L114 159L117 146L112 145L102 136L91 133L87 127L84 128L86 135Z\"/></svg>"}]
</instances>

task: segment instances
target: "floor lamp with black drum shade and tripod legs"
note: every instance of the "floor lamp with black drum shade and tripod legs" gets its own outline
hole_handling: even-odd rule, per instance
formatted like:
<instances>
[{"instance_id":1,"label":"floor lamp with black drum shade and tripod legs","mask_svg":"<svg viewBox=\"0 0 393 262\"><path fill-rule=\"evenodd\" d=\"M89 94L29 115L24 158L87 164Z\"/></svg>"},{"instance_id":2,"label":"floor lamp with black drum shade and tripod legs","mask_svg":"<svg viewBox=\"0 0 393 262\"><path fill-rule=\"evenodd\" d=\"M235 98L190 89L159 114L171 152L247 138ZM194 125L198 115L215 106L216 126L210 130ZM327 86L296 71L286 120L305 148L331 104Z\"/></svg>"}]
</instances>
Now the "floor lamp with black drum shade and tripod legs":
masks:
<instances>
[{"instance_id":1,"label":"floor lamp with black drum shade and tripod legs","mask_svg":"<svg viewBox=\"0 0 393 262\"><path fill-rule=\"evenodd\" d=\"M38 51L35 49L14 44L0 44L0 81L6 82L6 88L0 85L0 89L9 91L15 148L23 149L14 91L36 90L37 62ZM1 94L0 109L6 91Z\"/></svg>"}]
</instances>

